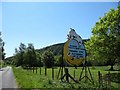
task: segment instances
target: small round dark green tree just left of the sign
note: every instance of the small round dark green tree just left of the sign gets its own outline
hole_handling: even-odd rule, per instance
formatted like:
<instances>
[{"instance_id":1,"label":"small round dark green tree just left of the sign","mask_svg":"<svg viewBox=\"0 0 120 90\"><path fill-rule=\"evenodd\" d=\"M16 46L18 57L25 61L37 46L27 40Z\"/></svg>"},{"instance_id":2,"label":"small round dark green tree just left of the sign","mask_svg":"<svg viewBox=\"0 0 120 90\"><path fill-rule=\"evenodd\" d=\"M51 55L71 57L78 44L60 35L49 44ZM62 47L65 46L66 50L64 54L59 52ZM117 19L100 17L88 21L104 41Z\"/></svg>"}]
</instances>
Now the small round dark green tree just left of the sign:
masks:
<instances>
[{"instance_id":1,"label":"small round dark green tree just left of the sign","mask_svg":"<svg viewBox=\"0 0 120 90\"><path fill-rule=\"evenodd\" d=\"M45 65L45 67L52 67L54 64L54 55L51 51L46 51L42 55L42 60Z\"/></svg>"}]
</instances>

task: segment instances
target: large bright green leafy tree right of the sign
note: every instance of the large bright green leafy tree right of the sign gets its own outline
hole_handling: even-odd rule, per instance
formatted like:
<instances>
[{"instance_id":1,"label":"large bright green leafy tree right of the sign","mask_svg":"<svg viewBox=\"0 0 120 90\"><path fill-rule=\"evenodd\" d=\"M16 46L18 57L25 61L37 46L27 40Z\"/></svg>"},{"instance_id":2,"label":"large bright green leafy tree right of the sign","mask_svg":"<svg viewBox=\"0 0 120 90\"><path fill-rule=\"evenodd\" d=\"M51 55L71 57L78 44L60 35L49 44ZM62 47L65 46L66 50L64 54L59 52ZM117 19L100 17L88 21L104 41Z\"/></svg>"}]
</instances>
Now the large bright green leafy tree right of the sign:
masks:
<instances>
[{"instance_id":1,"label":"large bright green leafy tree right of the sign","mask_svg":"<svg viewBox=\"0 0 120 90\"><path fill-rule=\"evenodd\" d=\"M92 37L86 42L90 59L106 62L113 70L120 62L120 6L106 13L92 29Z\"/></svg>"}]
</instances>

